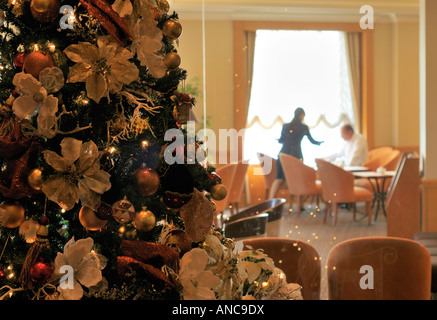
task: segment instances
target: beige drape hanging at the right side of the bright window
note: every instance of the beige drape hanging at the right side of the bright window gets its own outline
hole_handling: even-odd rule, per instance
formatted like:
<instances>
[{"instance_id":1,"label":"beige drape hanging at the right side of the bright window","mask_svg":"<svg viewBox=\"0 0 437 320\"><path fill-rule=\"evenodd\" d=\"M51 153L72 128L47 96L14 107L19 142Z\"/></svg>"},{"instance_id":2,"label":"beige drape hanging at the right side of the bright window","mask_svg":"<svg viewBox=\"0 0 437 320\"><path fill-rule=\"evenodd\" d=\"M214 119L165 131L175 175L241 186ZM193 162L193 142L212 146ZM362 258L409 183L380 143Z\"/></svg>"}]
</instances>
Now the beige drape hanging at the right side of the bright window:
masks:
<instances>
[{"instance_id":1,"label":"beige drape hanging at the right side of the bright window","mask_svg":"<svg viewBox=\"0 0 437 320\"><path fill-rule=\"evenodd\" d=\"M361 132L361 33L345 32L346 57L351 85L355 129Z\"/></svg>"}]
</instances>

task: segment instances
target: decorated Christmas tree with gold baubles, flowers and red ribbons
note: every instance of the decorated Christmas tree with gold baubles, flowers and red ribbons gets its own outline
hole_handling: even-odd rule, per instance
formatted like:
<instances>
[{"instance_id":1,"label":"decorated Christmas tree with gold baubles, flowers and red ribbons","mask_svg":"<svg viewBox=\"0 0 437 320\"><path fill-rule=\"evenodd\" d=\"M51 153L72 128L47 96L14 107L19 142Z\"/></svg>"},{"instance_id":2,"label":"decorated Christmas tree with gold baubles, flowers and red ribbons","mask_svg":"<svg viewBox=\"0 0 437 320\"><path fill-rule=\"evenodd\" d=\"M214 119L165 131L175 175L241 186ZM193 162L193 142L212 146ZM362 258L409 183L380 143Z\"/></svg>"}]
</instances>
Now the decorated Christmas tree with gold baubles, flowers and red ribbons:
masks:
<instances>
[{"instance_id":1,"label":"decorated Christmas tree with gold baubles, flowers and red ribbons","mask_svg":"<svg viewBox=\"0 0 437 320\"><path fill-rule=\"evenodd\" d=\"M292 298L168 135L195 99L166 0L1 0L0 26L0 299Z\"/></svg>"}]
</instances>

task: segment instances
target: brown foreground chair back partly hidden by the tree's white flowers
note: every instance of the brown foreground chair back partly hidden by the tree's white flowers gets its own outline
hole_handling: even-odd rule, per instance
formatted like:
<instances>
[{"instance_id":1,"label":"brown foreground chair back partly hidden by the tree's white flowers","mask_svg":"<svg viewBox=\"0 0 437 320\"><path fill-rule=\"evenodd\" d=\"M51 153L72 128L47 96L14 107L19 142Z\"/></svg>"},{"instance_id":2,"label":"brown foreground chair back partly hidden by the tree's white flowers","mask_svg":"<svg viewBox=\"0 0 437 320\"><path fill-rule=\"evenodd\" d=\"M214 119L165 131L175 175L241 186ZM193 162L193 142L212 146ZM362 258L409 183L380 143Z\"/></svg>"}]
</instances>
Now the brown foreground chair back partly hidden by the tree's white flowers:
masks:
<instances>
[{"instance_id":1,"label":"brown foreground chair back partly hidden by the tree's white flowers","mask_svg":"<svg viewBox=\"0 0 437 320\"><path fill-rule=\"evenodd\" d=\"M285 238L245 239L243 244L263 249L275 267L284 272L288 283L302 286L304 300L320 300L321 262L313 246Z\"/></svg>"}]
</instances>

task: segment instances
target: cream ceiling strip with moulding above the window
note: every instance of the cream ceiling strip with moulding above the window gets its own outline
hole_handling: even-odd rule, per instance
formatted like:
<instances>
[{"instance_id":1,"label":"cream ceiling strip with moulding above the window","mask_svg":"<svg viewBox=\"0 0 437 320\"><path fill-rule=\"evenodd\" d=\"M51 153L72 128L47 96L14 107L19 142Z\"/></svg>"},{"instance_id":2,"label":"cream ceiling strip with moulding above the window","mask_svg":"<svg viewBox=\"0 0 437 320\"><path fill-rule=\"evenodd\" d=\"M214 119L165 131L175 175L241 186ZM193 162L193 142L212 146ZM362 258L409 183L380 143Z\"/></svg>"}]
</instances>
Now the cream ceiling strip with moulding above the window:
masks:
<instances>
[{"instance_id":1,"label":"cream ceiling strip with moulding above the window","mask_svg":"<svg viewBox=\"0 0 437 320\"><path fill-rule=\"evenodd\" d=\"M417 20L420 0L204 0L207 19L344 21L360 19L364 4L381 19ZM202 0L171 0L183 19L201 19Z\"/></svg>"}]
</instances>

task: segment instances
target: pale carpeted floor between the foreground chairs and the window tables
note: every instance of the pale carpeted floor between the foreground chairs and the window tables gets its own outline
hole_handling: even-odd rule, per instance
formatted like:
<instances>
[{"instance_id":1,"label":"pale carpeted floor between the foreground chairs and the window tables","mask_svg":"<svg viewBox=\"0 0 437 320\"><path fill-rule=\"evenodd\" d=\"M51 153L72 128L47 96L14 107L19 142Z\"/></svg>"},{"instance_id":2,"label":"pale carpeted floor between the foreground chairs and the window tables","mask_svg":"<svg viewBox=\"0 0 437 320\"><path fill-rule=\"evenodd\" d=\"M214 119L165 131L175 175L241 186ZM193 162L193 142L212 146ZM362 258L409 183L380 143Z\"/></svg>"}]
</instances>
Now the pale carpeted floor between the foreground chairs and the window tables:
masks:
<instances>
[{"instance_id":1,"label":"pale carpeted floor between the foreground chairs and the window tables","mask_svg":"<svg viewBox=\"0 0 437 320\"><path fill-rule=\"evenodd\" d=\"M327 300L326 260L330 250L344 240L386 236L385 216L380 212L377 220L368 226L367 217L362 212L364 208L358 205L357 220L353 221L352 211L340 209L337 225L334 227L331 224L332 218L328 218L326 224L323 223L323 205L319 210L314 205L307 206L300 217L297 217L286 204L281 219L269 222L264 236L305 241L317 250L322 262L321 299Z\"/></svg>"}]
</instances>

